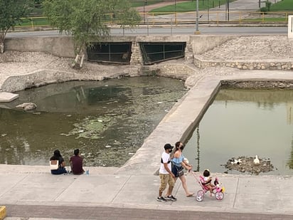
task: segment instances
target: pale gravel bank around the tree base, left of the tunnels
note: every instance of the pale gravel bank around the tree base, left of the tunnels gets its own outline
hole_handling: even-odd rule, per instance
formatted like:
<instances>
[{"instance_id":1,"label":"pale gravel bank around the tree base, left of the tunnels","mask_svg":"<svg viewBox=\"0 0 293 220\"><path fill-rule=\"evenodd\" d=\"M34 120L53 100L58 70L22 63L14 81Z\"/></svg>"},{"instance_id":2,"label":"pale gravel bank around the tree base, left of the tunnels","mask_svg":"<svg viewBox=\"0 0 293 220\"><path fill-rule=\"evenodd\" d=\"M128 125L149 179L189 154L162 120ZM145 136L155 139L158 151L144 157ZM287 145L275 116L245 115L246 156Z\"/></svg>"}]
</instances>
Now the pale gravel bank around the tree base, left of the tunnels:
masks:
<instances>
[{"instance_id":1,"label":"pale gravel bank around the tree base, left of the tunnels","mask_svg":"<svg viewBox=\"0 0 293 220\"><path fill-rule=\"evenodd\" d=\"M73 58L60 58L42 52L5 51L0 54L0 88L9 76L26 75L41 69L80 73L87 75L87 78L90 79L91 75L106 78L115 73L127 72L131 68L127 66L125 70L122 70L121 66L85 62L80 70L75 70L70 67L72 62Z\"/></svg>"}]
</instances>

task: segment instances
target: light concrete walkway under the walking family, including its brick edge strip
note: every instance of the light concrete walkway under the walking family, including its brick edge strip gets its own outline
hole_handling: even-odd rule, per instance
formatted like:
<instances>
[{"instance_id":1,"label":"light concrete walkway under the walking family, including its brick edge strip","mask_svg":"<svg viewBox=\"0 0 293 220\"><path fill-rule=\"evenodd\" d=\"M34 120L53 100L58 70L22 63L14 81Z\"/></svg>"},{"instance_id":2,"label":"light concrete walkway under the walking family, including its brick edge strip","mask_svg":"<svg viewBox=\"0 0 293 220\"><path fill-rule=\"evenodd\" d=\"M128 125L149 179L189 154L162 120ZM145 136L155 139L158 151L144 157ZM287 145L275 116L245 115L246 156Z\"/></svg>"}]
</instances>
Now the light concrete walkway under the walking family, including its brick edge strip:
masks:
<instances>
[{"instance_id":1,"label":"light concrete walkway under the walking family, including its brick edge strip","mask_svg":"<svg viewBox=\"0 0 293 220\"><path fill-rule=\"evenodd\" d=\"M156 201L158 176L107 174L107 170L101 174L101 169L100 174L90 170L88 176L51 175L48 167L36 167L36 172L35 167L23 168L28 173L17 173L18 169L5 173L6 165L0 166L0 204L6 206L7 220L12 220L12 217L101 219L102 216L106 219L138 219L138 216L139 219L164 219L159 217L171 210L175 211L169 213L176 217L173 219L196 217L198 212L208 219L213 216L218 216L218 219L219 216L225 216L220 219L226 219L226 216L233 219L293 217L293 199L287 191L293 177L218 174L226 189L224 199L217 201L206 194L201 202L195 197L185 197L178 181L174 188L174 196L178 200L161 203ZM191 174L186 179L191 192L200 189ZM137 217L132 218L132 214Z\"/></svg>"}]
</instances>

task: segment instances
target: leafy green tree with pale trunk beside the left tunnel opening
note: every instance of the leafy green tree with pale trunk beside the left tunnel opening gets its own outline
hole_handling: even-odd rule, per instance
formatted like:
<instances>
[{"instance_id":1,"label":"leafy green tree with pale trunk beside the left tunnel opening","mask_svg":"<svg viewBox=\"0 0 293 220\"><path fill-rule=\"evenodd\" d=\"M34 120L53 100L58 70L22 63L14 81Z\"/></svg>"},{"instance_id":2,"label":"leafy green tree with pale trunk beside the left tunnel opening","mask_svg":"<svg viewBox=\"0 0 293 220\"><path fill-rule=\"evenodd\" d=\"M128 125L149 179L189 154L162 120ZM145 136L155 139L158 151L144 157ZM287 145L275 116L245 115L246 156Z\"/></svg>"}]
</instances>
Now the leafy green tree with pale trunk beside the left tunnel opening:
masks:
<instances>
[{"instance_id":1,"label":"leafy green tree with pale trunk beside the left tunnel opening","mask_svg":"<svg viewBox=\"0 0 293 220\"><path fill-rule=\"evenodd\" d=\"M117 10L119 7L123 10ZM123 19L123 26L132 27L140 21L137 11L131 9L127 0L45 0L43 9L52 26L60 33L72 35L75 42L73 68L81 68L87 46L110 35L107 21L110 14ZM122 16L123 15L123 16Z\"/></svg>"}]
</instances>

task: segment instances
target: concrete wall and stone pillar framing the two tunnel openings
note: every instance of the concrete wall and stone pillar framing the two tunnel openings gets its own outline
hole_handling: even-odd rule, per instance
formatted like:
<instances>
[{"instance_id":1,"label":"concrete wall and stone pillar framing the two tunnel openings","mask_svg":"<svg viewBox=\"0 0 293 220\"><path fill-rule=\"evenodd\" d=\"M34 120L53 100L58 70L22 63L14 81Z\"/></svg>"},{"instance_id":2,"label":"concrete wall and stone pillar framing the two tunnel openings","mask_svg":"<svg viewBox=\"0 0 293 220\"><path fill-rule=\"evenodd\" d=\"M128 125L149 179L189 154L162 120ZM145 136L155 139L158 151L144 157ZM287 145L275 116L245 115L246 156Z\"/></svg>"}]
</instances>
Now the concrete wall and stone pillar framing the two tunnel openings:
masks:
<instances>
[{"instance_id":1,"label":"concrete wall and stone pillar framing the two tunnel openings","mask_svg":"<svg viewBox=\"0 0 293 220\"><path fill-rule=\"evenodd\" d=\"M186 42L186 59L193 54L201 54L229 41L237 36L188 36L188 35L157 35L157 36L111 36L101 39L106 42L132 42L131 64L142 64L139 49L140 42ZM22 38L6 38L6 51L46 52L54 56L74 58L74 42L70 36L33 36Z\"/></svg>"}]
</instances>

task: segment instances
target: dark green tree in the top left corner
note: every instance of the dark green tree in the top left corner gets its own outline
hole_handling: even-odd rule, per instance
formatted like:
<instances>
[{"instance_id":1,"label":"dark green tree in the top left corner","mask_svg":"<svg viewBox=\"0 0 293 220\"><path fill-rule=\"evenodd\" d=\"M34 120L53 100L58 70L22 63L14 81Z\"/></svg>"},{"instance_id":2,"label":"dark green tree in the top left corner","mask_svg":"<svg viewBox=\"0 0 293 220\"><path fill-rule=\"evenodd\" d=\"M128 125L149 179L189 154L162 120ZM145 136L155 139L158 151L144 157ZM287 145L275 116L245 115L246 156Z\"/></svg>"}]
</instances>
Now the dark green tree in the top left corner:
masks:
<instances>
[{"instance_id":1,"label":"dark green tree in the top left corner","mask_svg":"<svg viewBox=\"0 0 293 220\"><path fill-rule=\"evenodd\" d=\"M21 23L31 12L31 0L0 0L0 53L4 53L4 40L9 28Z\"/></svg>"}]
</instances>

